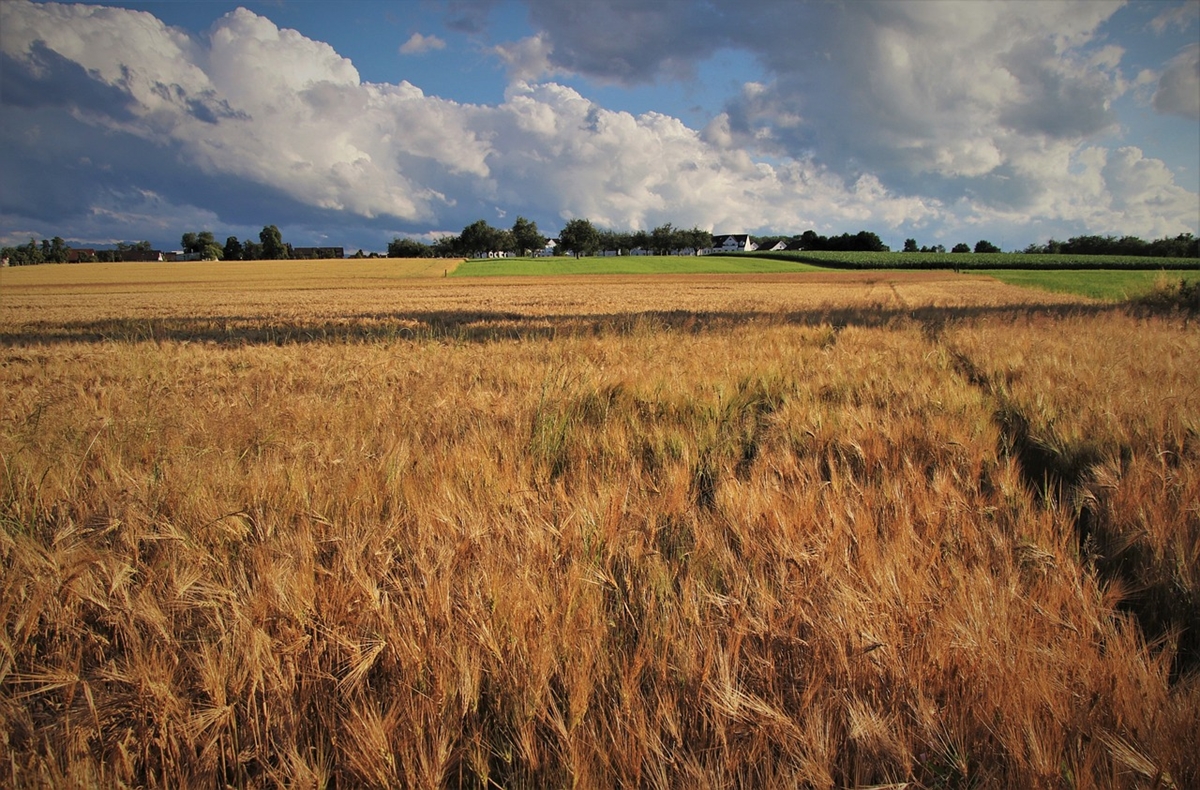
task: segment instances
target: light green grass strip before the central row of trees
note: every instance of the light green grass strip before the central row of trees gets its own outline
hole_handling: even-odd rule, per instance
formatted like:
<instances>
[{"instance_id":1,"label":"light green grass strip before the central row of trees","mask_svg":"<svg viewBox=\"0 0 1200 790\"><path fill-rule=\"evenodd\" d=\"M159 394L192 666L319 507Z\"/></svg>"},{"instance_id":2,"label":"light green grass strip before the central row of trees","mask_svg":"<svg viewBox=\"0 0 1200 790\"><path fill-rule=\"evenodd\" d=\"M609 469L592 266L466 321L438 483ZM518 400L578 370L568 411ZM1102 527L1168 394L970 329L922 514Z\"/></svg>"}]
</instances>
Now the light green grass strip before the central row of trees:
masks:
<instances>
[{"instance_id":1,"label":"light green grass strip before the central row of trees","mask_svg":"<svg viewBox=\"0 0 1200 790\"><path fill-rule=\"evenodd\" d=\"M572 274L773 274L821 271L798 261L726 256L620 256L593 258L500 258L464 261L451 277L526 277Z\"/></svg>"}]
</instances>

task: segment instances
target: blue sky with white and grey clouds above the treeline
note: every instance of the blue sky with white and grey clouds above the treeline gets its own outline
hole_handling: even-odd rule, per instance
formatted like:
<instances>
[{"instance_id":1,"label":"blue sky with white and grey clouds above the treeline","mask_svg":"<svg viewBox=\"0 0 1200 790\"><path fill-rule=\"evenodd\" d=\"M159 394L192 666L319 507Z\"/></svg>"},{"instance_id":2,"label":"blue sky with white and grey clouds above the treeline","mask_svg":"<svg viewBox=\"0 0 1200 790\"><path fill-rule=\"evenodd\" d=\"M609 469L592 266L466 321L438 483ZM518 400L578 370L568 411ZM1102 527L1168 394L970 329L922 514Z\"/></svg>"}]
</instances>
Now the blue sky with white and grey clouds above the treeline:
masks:
<instances>
[{"instance_id":1,"label":"blue sky with white and grey clouds above the treeline","mask_svg":"<svg viewBox=\"0 0 1200 790\"><path fill-rule=\"evenodd\" d=\"M1200 234L1200 0L0 0L0 246Z\"/></svg>"}]
</instances>

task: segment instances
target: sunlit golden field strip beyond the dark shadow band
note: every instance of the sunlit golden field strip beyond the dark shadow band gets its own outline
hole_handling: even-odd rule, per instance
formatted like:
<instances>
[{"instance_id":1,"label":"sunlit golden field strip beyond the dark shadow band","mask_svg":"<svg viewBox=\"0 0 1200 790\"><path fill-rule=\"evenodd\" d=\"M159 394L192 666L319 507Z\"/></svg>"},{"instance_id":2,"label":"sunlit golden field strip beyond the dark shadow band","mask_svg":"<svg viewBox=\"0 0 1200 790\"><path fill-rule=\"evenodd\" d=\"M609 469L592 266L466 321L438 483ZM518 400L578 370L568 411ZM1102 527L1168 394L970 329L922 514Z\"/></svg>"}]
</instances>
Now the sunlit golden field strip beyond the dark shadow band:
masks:
<instances>
[{"instance_id":1,"label":"sunlit golden field strip beyond the dark shadow band","mask_svg":"<svg viewBox=\"0 0 1200 790\"><path fill-rule=\"evenodd\" d=\"M85 267L90 264L79 264ZM98 265L98 264L97 264ZM461 316L545 317L628 316L630 313L772 315L822 312L884 312L902 316L906 306L932 310L978 307L1002 310L1067 305L1096 305L1070 294L1051 294L1006 286L952 273L852 273L762 275L655 275L643 277L413 277L364 281L344 267L326 267L325 274L295 287L295 263L262 262L256 273L264 282L230 277L206 287L168 280L140 282L142 264L121 265L114 281L89 286L83 275L73 280L73 265L22 267L0 273L0 331L19 334L24 328L78 327L89 322L163 319L168 324L192 319L228 319L259 324L306 325L350 323L359 319L457 313ZM166 264L163 264L166 265ZM178 277L194 277L188 268L169 264ZM367 264L370 265L370 264ZM382 265L382 264L380 264ZM26 269L52 269L37 276ZM318 271L318 269L313 269ZM898 294L902 301L898 300Z\"/></svg>"}]
</instances>

